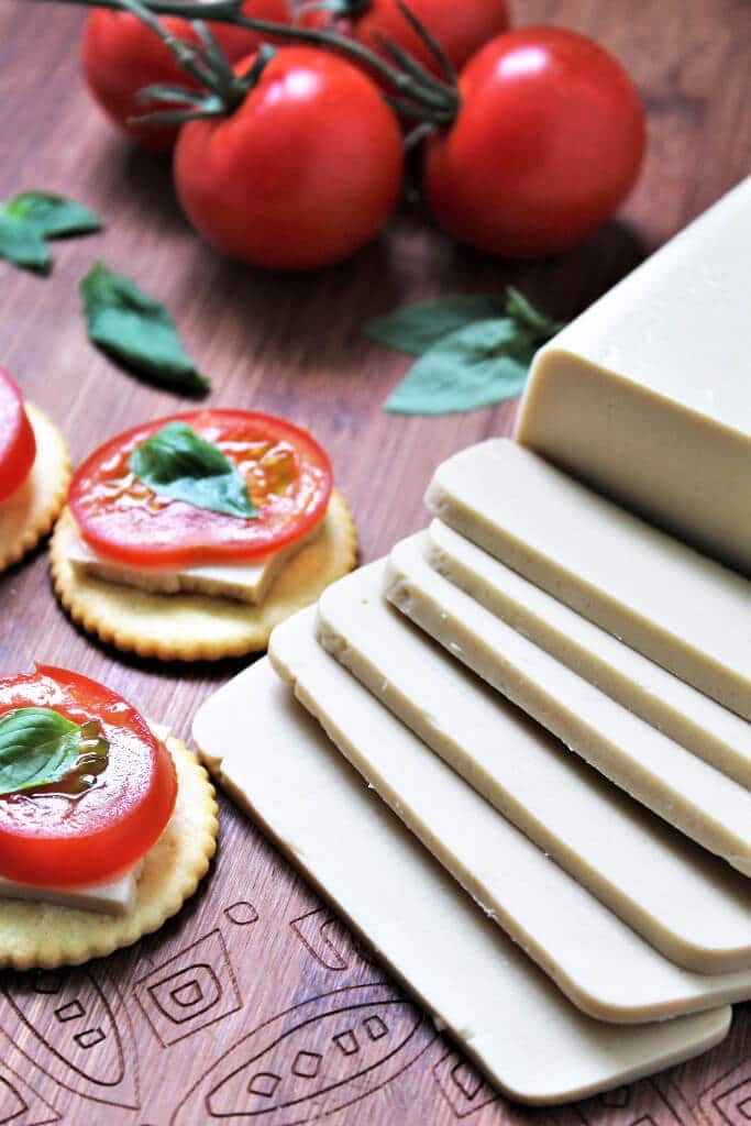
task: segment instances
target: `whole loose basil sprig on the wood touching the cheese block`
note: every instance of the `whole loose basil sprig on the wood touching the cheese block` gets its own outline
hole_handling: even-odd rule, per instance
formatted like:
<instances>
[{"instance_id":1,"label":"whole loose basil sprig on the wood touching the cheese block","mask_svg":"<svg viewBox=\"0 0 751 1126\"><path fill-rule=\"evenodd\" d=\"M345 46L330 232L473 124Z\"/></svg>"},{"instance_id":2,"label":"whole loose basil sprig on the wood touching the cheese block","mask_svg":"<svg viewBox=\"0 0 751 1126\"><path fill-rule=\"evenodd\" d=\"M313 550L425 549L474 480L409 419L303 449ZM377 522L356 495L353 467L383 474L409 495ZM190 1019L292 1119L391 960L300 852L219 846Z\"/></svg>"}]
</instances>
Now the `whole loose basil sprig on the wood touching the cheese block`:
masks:
<instances>
[{"instance_id":1,"label":"whole loose basil sprig on the wood touching the cheese block","mask_svg":"<svg viewBox=\"0 0 751 1126\"><path fill-rule=\"evenodd\" d=\"M365 331L420 357L385 411L449 414L518 395L535 352L562 328L509 287L503 305L482 295L438 297L370 321Z\"/></svg>"}]
</instances>

